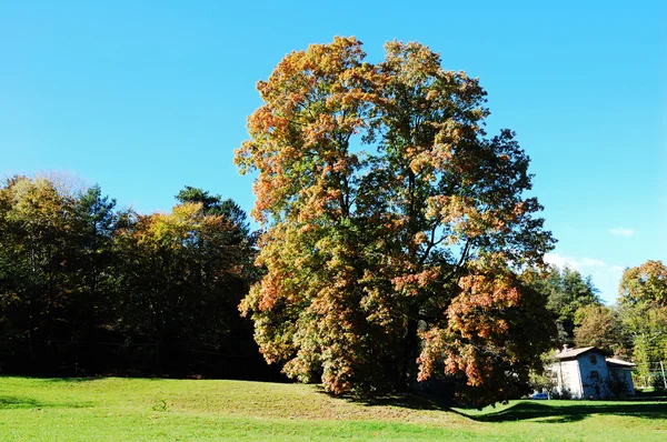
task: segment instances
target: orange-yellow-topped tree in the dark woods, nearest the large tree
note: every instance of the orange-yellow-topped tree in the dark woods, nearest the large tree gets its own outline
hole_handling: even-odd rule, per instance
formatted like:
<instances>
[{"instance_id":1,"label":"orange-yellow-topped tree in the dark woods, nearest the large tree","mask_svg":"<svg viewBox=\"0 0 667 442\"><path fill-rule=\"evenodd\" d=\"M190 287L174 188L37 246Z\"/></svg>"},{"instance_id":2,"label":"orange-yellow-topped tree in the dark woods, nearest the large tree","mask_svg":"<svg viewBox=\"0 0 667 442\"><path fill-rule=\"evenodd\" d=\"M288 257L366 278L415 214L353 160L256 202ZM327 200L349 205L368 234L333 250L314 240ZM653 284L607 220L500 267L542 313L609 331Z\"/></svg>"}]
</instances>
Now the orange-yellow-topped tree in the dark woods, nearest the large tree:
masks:
<instances>
[{"instance_id":1,"label":"orange-yellow-topped tree in the dark woods, nearest the large tree","mask_svg":"<svg viewBox=\"0 0 667 442\"><path fill-rule=\"evenodd\" d=\"M185 203L171 213L136 215L118 247L126 333L157 342L163 369L186 372L190 349L247 350L239 340L249 340L250 330L238 304L249 288L253 251L238 241L233 222L206 214L202 203Z\"/></svg>"}]
</instances>

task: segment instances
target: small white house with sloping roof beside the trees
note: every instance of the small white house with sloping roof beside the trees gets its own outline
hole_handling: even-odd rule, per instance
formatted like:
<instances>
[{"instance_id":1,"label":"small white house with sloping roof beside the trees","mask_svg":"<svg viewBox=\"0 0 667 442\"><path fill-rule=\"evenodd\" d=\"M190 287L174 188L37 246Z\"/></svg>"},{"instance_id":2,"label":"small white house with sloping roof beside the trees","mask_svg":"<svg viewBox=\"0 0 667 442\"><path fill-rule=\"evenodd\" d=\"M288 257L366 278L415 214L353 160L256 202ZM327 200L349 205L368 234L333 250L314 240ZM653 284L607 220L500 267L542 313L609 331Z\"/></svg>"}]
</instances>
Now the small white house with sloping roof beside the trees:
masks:
<instances>
[{"instance_id":1,"label":"small white house with sloping roof beside the trees","mask_svg":"<svg viewBox=\"0 0 667 442\"><path fill-rule=\"evenodd\" d=\"M631 371L636 365L606 358L595 346L568 349L555 354L549 370L556 381L554 392L571 399L609 399L634 395Z\"/></svg>"}]
</instances>

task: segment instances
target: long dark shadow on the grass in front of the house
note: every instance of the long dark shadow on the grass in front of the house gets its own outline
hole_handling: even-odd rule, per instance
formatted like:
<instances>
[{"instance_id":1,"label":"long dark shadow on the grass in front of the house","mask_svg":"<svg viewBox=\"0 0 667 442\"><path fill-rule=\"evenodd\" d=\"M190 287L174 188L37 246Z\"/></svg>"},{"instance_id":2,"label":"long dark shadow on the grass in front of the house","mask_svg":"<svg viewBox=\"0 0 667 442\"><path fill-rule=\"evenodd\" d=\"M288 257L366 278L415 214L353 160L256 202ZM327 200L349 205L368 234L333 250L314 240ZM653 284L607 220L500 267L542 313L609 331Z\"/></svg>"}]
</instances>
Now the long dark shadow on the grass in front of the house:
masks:
<instances>
[{"instance_id":1,"label":"long dark shadow on the grass in front of the house","mask_svg":"<svg viewBox=\"0 0 667 442\"><path fill-rule=\"evenodd\" d=\"M559 402L547 404L544 402L519 402L505 410L485 414L466 414L451 410L460 415L478 422L510 422L535 420L536 422L576 422L591 414L628 415L644 419L666 419L667 402Z\"/></svg>"}]
</instances>

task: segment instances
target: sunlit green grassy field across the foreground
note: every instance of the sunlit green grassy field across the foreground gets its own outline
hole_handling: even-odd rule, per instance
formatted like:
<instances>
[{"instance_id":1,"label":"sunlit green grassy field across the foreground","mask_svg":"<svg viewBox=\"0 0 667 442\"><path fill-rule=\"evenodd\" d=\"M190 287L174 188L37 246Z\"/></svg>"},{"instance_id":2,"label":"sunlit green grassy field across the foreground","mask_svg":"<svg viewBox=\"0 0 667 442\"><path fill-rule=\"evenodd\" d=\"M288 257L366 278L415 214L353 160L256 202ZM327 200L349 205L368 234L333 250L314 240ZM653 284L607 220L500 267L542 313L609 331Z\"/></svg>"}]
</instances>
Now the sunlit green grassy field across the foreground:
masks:
<instances>
[{"instance_id":1,"label":"sunlit green grassy field across the foreground","mask_svg":"<svg viewBox=\"0 0 667 442\"><path fill-rule=\"evenodd\" d=\"M364 404L317 386L0 378L0 441L667 441L667 402L517 401L472 410Z\"/></svg>"}]
</instances>

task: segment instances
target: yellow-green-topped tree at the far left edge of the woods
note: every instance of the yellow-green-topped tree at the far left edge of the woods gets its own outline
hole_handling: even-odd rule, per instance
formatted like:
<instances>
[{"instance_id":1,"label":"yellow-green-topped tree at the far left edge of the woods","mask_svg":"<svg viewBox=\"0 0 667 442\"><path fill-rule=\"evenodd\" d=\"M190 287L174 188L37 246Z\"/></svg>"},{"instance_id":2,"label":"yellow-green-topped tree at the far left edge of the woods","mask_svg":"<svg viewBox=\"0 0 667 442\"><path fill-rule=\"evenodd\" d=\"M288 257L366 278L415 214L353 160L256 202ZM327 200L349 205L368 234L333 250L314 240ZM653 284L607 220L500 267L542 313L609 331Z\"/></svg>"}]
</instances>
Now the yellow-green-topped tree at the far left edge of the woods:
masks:
<instances>
[{"instance_id":1,"label":"yellow-green-topped tree at the far left edge of the woods","mask_svg":"<svg viewBox=\"0 0 667 442\"><path fill-rule=\"evenodd\" d=\"M41 359L69 339L73 318L74 200L46 179L13 177L0 189L0 340ZM38 350L39 345L41 350Z\"/></svg>"}]
</instances>

